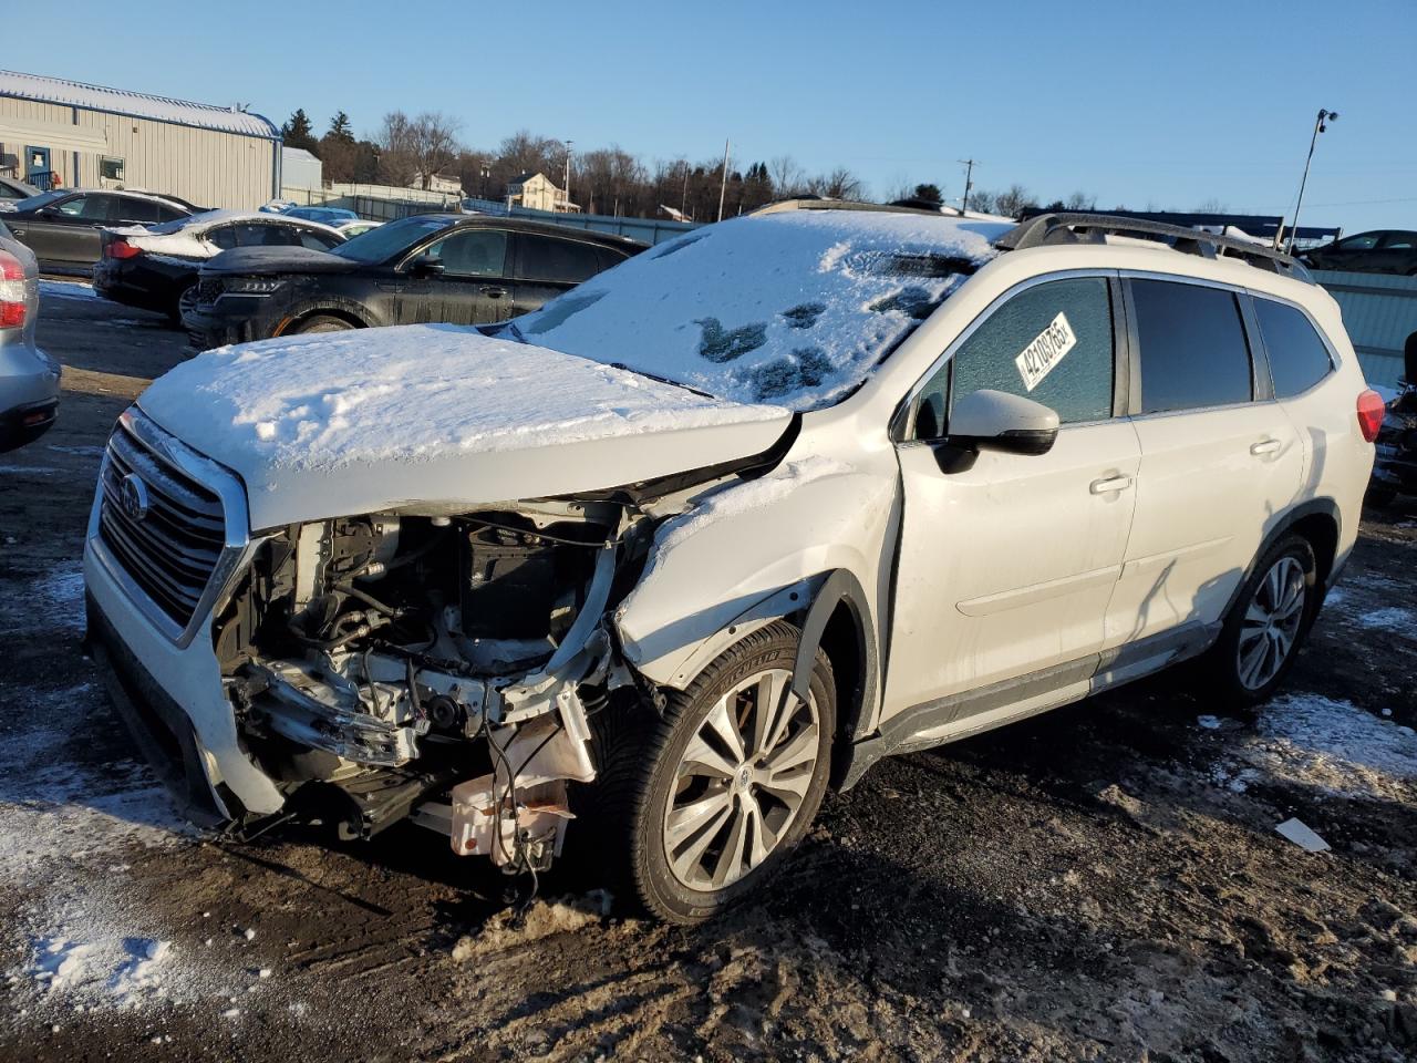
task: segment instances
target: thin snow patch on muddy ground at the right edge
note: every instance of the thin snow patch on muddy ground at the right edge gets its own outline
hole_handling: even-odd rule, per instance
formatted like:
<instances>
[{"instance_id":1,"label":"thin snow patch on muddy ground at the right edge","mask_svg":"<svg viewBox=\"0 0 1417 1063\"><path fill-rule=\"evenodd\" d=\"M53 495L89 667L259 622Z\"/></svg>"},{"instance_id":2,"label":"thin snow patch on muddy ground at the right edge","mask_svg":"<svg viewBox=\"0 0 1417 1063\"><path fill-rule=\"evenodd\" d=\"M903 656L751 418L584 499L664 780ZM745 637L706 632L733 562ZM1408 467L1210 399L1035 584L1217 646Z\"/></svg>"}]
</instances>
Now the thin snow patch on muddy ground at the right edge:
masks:
<instances>
[{"instance_id":1,"label":"thin snow patch on muddy ground at the right edge","mask_svg":"<svg viewBox=\"0 0 1417 1063\"><path fill-rule=\"evenodd\" d=\"M1417 792L1417 733L1350 702L1284 694L1261 710L1240 757L1267 775L1348 797L1410 801ZM1253 782L1240 772L1236 778Z\"/></svg>"}]
</instances>

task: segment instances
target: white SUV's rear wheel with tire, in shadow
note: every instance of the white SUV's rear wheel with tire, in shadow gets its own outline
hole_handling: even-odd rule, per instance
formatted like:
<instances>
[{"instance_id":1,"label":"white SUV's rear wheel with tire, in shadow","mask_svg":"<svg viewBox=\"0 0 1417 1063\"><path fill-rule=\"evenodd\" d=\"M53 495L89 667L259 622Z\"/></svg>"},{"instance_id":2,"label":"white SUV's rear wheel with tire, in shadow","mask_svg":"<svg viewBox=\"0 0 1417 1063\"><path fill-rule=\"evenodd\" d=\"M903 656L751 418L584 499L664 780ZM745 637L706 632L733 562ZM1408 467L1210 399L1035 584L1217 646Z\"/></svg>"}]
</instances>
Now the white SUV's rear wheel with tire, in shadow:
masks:
<instances>
[{"instance_id":1,"label":"white SUV's rear wheel with tire, in shadow","mask_svg":"<svg viewBox=\"0 0 1417 1063\"><path fill-rule=\"evenodd\" d=\"M1294 666L1318 607L1314 547L1302 536L1285 536L1264 553L1226 615L1207 656L1212 692L1234 709L1272 697Z\"/></svg>"}]
</instances>

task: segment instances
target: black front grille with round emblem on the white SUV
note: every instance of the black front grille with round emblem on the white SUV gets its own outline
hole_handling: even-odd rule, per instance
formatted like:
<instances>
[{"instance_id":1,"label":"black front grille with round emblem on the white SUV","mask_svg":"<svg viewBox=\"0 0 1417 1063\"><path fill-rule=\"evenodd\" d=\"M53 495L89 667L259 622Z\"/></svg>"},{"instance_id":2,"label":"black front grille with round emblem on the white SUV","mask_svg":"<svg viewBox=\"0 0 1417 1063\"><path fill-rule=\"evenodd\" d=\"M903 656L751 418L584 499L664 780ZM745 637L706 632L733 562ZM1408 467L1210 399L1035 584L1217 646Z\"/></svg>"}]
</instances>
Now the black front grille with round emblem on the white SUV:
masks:
<instances>
[{"instance_id":1,"label":"black front grille with round emblem on the white SUV","mask_svg":"<svg viewBox=\"0 0 1417 1063\"><path fill-rule=\"evenodd\" d=\"M123 480L136 476L147 512L123 506ZM136 490L136 483L133 485ZM119 424L108 441L99 536L139 590L186 626L225 547L220 496L139 442Z\"/></svg>"}]
</instances>

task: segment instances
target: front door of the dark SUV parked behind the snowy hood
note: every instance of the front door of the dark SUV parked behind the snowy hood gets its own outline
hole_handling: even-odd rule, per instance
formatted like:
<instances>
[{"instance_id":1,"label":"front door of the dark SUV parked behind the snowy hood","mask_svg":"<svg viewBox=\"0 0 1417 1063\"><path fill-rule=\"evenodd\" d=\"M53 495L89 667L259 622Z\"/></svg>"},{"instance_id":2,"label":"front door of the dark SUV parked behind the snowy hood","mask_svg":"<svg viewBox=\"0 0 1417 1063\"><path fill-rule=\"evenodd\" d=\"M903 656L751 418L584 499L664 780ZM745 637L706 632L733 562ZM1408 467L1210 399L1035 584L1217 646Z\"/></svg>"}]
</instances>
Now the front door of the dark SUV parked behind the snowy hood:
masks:
<instances>
[{"instance_id":1,"label":"front door of the dark SUV parked behind the snowy hood","mask_svg":"<svg viewBox=\"0 0 1417 1063\"><path fill-rule=\"evenodd\" d=\"M398 323L485 325L512 316L506 230L458 228L429 244L404 265ZM442 265L419 275L414 262Z\"/></svg>"}]
</instances>

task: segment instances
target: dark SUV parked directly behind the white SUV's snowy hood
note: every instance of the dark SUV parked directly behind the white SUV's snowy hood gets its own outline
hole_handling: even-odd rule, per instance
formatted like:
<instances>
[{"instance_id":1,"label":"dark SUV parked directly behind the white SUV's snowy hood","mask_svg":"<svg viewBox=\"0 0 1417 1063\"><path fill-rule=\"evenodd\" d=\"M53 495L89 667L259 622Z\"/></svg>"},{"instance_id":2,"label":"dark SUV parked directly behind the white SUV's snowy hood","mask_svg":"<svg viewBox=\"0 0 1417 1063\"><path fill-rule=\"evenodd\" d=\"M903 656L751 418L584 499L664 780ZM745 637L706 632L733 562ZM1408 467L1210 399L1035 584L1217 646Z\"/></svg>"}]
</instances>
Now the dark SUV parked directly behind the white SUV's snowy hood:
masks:
<instances>
[{"instance_id":1,"label":"dark SUV parked directly behind the white SUV's snowy hood","mask_svg":"<svg viewBox=\"0 0 1417 1063\"><path fill-rule=\"evenodd\" d=\"M201 269L183 323L198 349L292 332L476 325L534 310L643 244L534 221L427 214L329 254L235 248Z\"/></svg>"}]
</instances>

